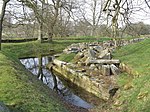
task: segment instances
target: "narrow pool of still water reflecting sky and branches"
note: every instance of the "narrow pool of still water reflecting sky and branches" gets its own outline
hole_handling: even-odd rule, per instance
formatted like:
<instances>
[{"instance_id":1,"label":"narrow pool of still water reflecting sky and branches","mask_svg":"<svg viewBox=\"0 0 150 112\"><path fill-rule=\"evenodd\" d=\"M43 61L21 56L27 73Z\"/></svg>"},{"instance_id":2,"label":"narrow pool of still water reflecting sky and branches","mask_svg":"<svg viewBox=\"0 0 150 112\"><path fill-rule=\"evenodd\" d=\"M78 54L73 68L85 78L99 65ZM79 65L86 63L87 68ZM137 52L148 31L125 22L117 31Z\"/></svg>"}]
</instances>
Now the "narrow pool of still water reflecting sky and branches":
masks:
<instances>
[{"instance_id":1,"label":"narrow pool of still water reflecting sky and branches","mask_svg":"<svg viewBox=\"0 0 150 112\"><path fill-rule=\"evenodd\" d=\"M46 69L45 65L49 62L49 58L47 56L41 58L20 59L20 62L30 72L32 72L34 75L37 75L38 78L42 80L43 83L45 83L49 88L57 91L58 94L62 95L63 98L68 102L86 109L93 108L92 104L87 103L81 97L76 95L71 89L63 84L61 79Z\"/></svg>"}]
</instances>

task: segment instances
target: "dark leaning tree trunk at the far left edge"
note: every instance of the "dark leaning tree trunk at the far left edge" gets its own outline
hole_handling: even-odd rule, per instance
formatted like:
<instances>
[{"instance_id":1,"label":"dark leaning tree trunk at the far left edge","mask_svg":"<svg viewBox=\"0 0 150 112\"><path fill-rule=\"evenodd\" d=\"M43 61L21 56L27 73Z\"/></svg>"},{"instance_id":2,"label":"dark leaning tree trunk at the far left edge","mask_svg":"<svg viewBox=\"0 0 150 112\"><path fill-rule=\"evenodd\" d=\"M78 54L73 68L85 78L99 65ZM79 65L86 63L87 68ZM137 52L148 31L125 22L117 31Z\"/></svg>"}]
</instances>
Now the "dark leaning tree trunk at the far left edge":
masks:
<instances>
[{"instance_id":1,"label":"dark leaning tree trunk at the far left edge","mask_svg":"<svg viewBox=\"0 0 150 112\"><path fill-rule=\"evenodd\" d=\"M2 5L2 11L0 14L0 50L1 50L1 43L2 43L2 31L3 31L3 20L5 16L5 9L6 5L10 0L3 0L3 5Z\"/></svg>"}]
</instances>

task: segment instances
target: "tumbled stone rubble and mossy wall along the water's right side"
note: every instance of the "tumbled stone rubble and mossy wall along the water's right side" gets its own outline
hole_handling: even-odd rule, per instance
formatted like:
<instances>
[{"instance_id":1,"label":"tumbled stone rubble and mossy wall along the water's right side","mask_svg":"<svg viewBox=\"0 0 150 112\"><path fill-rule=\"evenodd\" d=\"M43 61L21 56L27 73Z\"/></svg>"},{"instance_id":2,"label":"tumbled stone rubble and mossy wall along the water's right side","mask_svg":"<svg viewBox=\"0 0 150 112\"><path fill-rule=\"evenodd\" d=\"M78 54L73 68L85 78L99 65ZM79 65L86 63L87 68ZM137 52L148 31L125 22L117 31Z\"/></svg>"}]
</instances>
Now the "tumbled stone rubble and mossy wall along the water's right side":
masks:
<instances>
[{"instance_id":1,"label":"tumbled stone rubble and mossy wall along the water's right side","mask_svg":"<svg viewBox=\"0 0 150 112\"><path fill-rule=\"evenodd\" d=\"M121 40L120 46L142 40L144 39ZM114 50L113 41L72 44L63 52L76 53L74 63L54 59L54 70L86 91L108 100L119 89L116 77L121 72L120 60L112 59L111 53Z\"/></svg>"}]
</instances>

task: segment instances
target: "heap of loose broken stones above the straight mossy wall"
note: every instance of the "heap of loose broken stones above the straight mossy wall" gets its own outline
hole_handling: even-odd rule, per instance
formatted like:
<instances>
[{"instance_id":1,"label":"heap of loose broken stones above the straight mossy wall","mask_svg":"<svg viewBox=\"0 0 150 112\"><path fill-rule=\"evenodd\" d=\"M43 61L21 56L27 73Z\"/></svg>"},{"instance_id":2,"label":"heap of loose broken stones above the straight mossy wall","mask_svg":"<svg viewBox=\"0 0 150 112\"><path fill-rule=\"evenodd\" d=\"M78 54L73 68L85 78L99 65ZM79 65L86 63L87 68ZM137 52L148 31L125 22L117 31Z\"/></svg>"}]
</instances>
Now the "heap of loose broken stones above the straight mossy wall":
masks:
<instances>
[{"instance_id":1,"label":"heap of loose broken stones above the straight mossy wall","mask_svg":"<svg viewBox=\"0 0 150 112\"><path fill-rule=\"evenodd\" d=\"M75 64L78 67L100 71L102 75L118 75L120 73L118 59L112 59L111 52L114 50L110 42L78 43L68 46L64 53L76 53Z\"/></svg>"}]
</instances>

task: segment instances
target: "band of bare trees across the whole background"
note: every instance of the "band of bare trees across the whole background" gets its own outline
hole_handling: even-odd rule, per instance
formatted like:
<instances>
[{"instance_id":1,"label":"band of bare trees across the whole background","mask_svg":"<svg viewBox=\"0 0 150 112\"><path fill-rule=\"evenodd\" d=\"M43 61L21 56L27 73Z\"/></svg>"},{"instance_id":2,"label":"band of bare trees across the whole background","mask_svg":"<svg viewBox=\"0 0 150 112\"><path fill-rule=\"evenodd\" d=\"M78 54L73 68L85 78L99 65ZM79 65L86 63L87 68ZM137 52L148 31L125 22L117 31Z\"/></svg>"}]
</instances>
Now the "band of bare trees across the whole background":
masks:
<instances>
[{"instance_id":1,"label":"band of bare trees across the whole background","mask_svg":"<svg viewBox=\"0 0 150 112\"><path fill-rule=\"evenodd\" d=\"M2 0L0 43L2 36L38 37L42 42L44 37L52 41L68 36L149 35L148 24L131 21L139 11L149 14L150 1L140 1L145 4L133 0Z\"/></svg>"}]
</instances>

